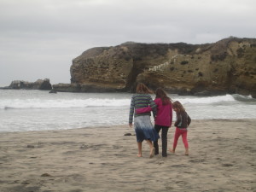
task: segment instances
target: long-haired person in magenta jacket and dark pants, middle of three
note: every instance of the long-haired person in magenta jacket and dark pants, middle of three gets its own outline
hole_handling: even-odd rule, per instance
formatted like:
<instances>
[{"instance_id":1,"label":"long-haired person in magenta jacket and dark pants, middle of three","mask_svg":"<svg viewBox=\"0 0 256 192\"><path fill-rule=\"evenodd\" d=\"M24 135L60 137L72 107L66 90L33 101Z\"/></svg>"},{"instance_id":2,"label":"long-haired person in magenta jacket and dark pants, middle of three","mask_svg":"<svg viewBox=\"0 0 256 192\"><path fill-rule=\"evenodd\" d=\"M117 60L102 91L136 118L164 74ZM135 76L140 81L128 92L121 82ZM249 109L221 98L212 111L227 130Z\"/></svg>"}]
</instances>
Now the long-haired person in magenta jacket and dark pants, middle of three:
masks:
<instances>
[{"instance_id":1,"label":"long-haired person in magenta jacket and dark pants, middle of three","mask_svg":"<svg viewBox=\"0 0 256 192\"><path fill-rule=\"evenodd\" d=\"M162 156L167 156L167 133L172 125L172 99L166 95L165 90L158 88L155 91L155 104L157 105L157 114L154 119L154 129L159 133L161 132L162 139ZM147 113L152 110L148 108L139 108L137 113ZM158 140L154 141L154 154L159 154Z\"/></svg>"}]
</instances>

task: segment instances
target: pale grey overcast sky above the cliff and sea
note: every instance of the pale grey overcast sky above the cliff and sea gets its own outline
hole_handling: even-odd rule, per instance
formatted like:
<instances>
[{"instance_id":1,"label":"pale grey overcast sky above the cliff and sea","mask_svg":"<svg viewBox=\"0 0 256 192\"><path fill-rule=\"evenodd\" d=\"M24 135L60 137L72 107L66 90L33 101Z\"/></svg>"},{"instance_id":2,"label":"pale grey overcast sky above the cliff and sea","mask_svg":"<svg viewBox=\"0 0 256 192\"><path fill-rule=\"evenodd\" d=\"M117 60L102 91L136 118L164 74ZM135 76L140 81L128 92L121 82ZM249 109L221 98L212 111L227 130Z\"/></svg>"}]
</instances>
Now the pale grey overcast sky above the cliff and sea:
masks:
<instances>
[{"instance_id":1,"label":"pale grey overcast sky above the cliff and sea","mask_svg":"<svg viewBox=\"0 0 256 192\"><path fill-rule=\"evenodd\" d=\"M86 49L256 38L255 0L0 0L0 86L70 83Z\"/></svg>"}]
</instances>

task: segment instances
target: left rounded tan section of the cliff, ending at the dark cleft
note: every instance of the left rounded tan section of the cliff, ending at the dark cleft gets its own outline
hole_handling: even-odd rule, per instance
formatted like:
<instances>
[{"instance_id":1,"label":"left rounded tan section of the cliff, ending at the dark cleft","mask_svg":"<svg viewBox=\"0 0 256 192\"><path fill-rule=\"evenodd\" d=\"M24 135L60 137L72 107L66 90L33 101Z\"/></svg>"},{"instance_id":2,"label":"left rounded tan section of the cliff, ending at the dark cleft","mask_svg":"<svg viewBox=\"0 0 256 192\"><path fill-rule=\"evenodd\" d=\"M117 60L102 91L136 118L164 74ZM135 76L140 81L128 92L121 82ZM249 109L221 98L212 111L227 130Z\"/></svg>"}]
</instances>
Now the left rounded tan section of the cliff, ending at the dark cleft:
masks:
<instances>
[{"instance_id":1,"label":"left rounded tan section of the cliff, ending at the dark cleft","mask_svg":"<svg viewBox=\"0 0 256 192\"><path fill-rule=\"evenodd\" d=\"M71 82L81 90L125 90L133 67L129 49L125 46L93 48L73 60Z\"/></svg>"}]
</instances>

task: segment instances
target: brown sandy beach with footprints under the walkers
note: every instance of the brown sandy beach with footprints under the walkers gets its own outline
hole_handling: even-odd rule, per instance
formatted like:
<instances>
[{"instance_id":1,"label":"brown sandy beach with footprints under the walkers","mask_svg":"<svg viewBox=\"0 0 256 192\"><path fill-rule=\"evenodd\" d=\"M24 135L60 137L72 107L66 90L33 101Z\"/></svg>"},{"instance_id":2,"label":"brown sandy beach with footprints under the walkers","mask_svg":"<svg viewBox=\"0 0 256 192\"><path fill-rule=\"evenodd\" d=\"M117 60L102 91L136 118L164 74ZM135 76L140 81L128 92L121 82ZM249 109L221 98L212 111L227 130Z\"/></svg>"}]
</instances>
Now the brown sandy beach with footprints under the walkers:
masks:
<instances>
[{"instance_id":1,"label":"brown sandy beach with footprints under the walkers","mask_svg":"<svg viewBox=\"0 0 256 192\"><path fill-rule=\"evenodd\" d=\"M256 119L193 120L188 140L149 159L128 125L2 132L0 191L256 191Z\"/></svg>"}]
</instances>

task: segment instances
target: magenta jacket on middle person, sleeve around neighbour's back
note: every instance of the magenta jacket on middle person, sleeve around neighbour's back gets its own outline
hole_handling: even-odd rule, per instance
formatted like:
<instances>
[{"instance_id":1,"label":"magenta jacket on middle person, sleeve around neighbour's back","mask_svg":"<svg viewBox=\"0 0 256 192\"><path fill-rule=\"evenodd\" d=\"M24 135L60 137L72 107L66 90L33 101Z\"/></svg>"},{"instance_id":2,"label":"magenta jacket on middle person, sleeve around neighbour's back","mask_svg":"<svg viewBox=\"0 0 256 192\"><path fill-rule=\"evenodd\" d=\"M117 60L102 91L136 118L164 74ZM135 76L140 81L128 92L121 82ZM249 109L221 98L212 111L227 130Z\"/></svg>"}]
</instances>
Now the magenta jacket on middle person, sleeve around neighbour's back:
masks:
<instances>
[{"instance_id":1,"label":"magenta jacket on middle person, sleeve around neighbour's back","mask_svg":"<svg viewBox=\"0 0 256 192\"><path fill-rule=\"evenodd\" d=\"M163 105L160 98L154 99L154 102L157 105L157 114L154 119L154 124L170 127L172 125L172 104ZM151 110L150 107L138 108L136 109L136 113L146 113Z\"/></svg>"}]
</instances>

